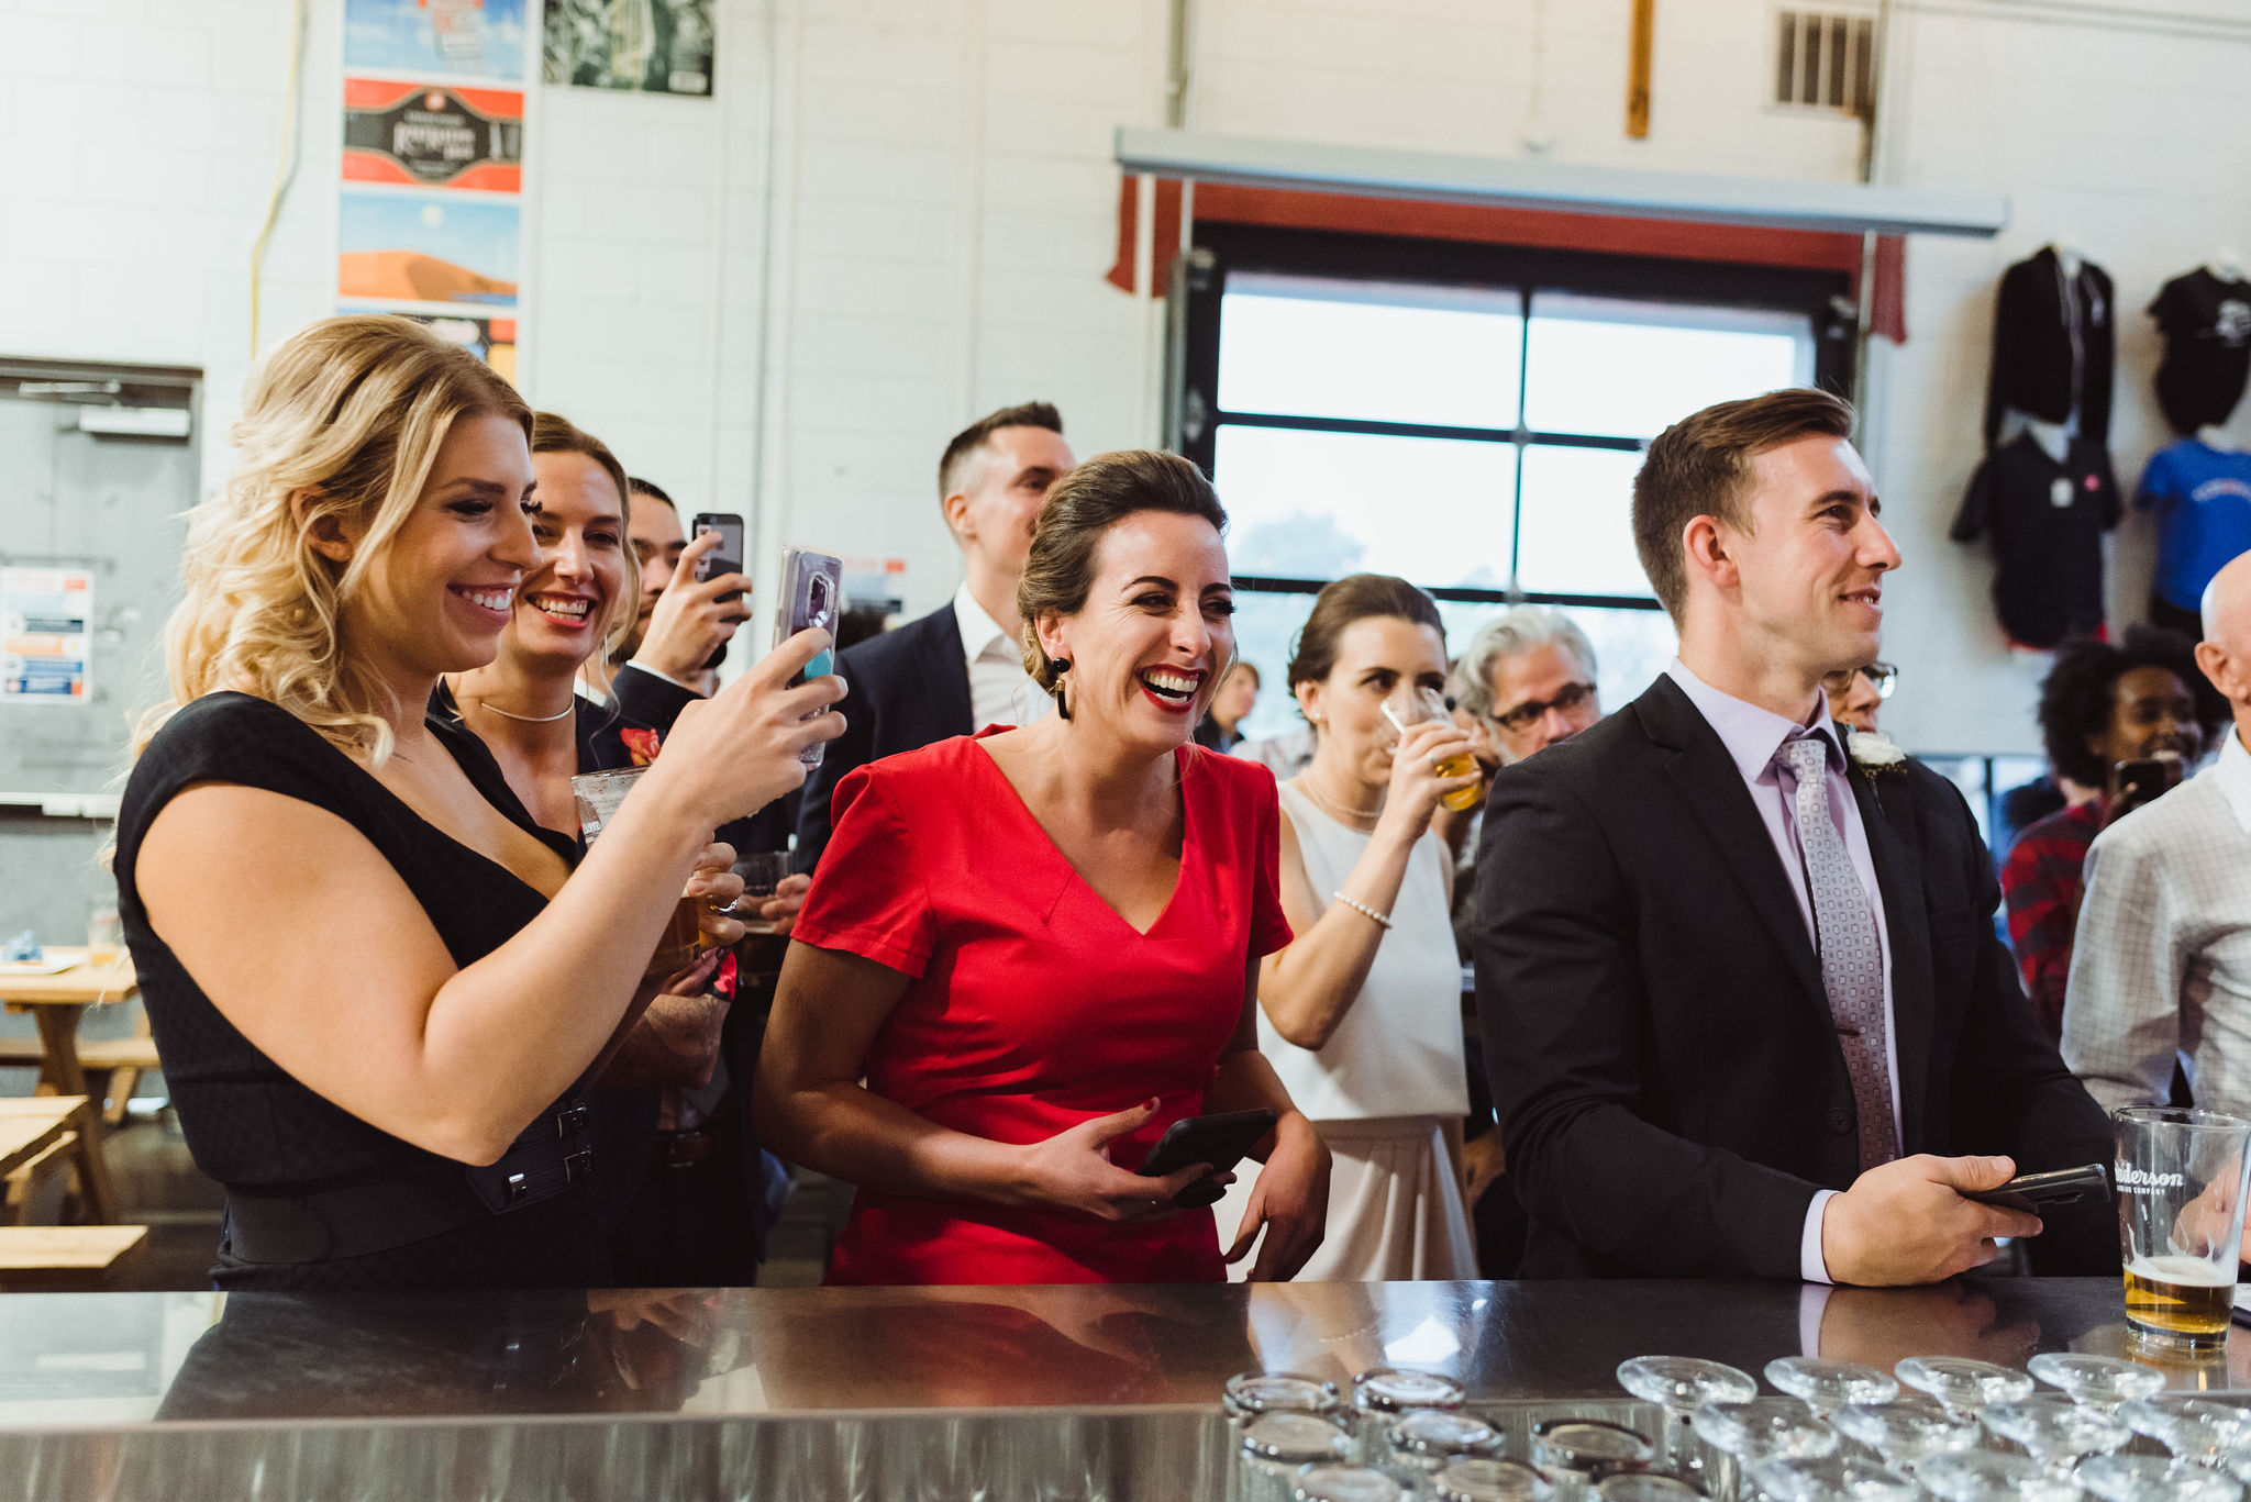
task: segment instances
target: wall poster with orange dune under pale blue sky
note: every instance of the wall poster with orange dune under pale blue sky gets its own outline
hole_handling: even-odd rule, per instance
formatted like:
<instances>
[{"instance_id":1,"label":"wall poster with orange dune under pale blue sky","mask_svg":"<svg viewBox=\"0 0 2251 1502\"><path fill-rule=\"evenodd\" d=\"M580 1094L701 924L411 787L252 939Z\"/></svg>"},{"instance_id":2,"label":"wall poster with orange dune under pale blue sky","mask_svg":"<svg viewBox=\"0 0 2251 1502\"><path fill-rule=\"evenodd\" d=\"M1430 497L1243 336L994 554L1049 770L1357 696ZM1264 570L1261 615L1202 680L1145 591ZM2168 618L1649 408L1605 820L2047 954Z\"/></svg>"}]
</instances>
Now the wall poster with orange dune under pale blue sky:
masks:
<instances>
[{"instance_id":1,"label":"wall poster with orange dune under pale blue sky","mask_svg":"<svg viewBox=\"0 0 2251 1502\"><path fill-rule=\"evenodd\" d=\"M344 189L335 293L344 306L515 309L522 207L515 198Z\"/></svg>"}]
</instances>

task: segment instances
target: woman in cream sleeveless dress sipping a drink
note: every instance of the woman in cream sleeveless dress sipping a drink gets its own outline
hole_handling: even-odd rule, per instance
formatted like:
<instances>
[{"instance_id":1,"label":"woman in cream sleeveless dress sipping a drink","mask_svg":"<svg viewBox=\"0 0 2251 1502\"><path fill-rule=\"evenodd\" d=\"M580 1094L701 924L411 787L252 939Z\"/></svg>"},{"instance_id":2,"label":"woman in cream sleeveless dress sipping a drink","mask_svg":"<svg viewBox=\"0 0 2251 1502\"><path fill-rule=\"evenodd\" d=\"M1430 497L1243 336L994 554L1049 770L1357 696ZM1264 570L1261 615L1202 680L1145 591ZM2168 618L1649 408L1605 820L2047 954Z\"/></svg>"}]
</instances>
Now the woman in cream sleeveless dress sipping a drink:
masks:
<instances>
[{"instance_id":1,"label":"woman in cream sleeveless dress sipping a drink","mask_svg":"<svg viewBox=\"0 0 2251 1502\"><path fill-rule=\"evenodd\" d=\"M1328 1144L1328 1234L1301 1279L1477 1277L1461 1196L1461 964L1447 919L1452 860L1432 833L1441 777L1470 750L1452 721L1400 709L1445 685L1445 631L1405 579L1321 590L1290 662L1312 763L1281 784L1281 903L1297 939L1258 971L1258 1049ZM1402 716L1411 718L1411 716ZM1231 1236L1256 1164L1218 1207ZM1249 1248L1229 1248L1236 1268ZM1240 1272L1238 1272L1240 1277Z\"/></svg>"}]
</instances>

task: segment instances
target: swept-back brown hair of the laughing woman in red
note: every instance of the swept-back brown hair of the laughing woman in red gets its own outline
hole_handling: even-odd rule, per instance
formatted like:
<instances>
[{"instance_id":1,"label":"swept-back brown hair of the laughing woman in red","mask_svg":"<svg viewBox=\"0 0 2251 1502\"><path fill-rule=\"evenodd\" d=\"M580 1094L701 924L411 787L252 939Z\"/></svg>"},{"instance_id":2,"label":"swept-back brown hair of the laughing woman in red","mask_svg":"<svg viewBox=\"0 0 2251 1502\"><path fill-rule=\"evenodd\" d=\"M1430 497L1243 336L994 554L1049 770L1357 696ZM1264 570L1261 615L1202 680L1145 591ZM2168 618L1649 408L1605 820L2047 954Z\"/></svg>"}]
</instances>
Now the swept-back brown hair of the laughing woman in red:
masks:
<instances>
[{"instance_id":1,"label":"swept-back brown hair of the laughing woman in red","mask_svg":"<svg viewBox=\"0 0 2251 1502\"><path fill-rule=\"evenodd\" d=\"M1094 549L1103 534L1139 511L1202 516L1220 536L1227 534L1227 507L1218 491L1204 480L1204 471L1177 453L1098 453L1058 480L1040 507L1024 579L1015 585L1015 610L1024 617L1024 671L1047 694L1060 691L1062 676L1040 651L1035 622L1085 608L1094 590Z\"/></svg>"}]
</instances>

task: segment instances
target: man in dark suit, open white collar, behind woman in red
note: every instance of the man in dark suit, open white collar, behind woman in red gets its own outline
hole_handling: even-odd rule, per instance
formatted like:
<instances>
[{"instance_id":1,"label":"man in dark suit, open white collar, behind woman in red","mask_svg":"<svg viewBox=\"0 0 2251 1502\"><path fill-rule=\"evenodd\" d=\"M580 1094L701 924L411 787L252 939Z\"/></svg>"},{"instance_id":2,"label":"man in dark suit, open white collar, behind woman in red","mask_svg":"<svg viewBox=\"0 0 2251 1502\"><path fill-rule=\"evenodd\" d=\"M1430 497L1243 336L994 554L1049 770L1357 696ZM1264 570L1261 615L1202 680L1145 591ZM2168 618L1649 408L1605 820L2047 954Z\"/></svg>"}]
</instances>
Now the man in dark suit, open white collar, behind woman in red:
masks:
<instances>
[{"instance_id":1,"label":"man in dark suit, open white collar, behind woman in red","mask_svg":"<svg viewBox=\"0 0 2251 1502\"><path fill-rule=\"evenodd\" d=\"M828 799L844 772L981 725L1029 725L1047 714L1047 696L1024 673L1015 585L1047 489L1076 464L1062 417L1044 401L990 412L945 446L939 507L961 547L961 588L930 615L837 653L849 687L844 734L806 779L799 869L810 871L828 847Z\"/></svg>"}]
</instances>

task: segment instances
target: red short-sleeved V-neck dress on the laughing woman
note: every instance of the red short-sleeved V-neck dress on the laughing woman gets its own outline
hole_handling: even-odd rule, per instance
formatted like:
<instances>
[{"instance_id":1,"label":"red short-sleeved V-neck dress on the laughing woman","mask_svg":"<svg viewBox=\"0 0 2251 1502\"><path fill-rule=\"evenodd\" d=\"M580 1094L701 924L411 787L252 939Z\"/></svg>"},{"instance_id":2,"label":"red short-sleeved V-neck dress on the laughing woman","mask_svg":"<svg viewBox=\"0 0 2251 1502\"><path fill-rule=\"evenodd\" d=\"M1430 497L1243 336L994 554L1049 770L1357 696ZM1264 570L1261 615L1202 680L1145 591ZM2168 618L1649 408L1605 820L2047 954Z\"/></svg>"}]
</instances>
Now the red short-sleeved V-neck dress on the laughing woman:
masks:
<instances>
[{"instance_id":1,"label":"red short-sleeved V-neck dress on the laughing woman","mask_svg":"<svg viewBox=\"0 0 2251 1502\"><path fill-rule=\"evenodd\" d=\"M1243 1013L1243 975L1290 941L1274 775L1175 752L1180 885L1135 932L1078 876L977 739L849 772L795 939L912 977L867 1085L939 1126L1042 1142L1155 1097L1112 1144L1132 1169L1204 1110ZM1153 1225L862 1191L831 1284L1198 1284L1225 1277L1209 1209Z\"/></svg>"}]
</instances>

